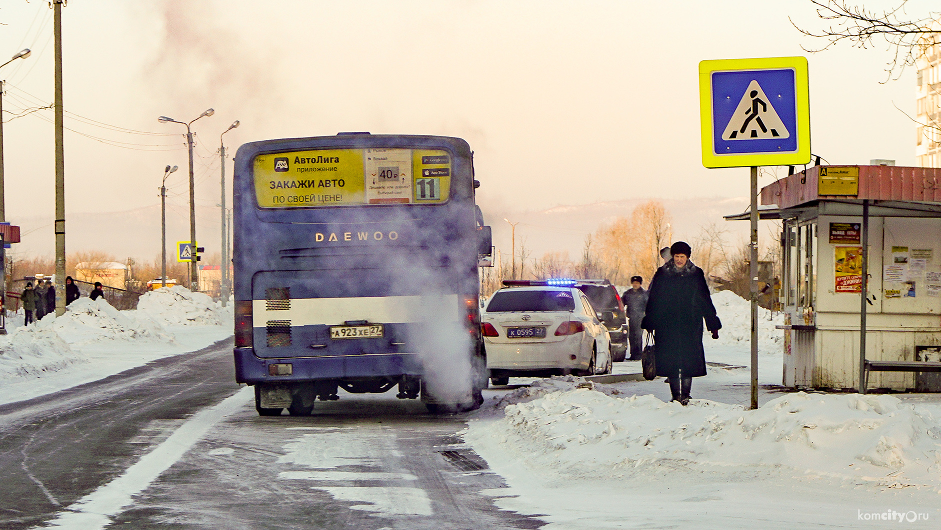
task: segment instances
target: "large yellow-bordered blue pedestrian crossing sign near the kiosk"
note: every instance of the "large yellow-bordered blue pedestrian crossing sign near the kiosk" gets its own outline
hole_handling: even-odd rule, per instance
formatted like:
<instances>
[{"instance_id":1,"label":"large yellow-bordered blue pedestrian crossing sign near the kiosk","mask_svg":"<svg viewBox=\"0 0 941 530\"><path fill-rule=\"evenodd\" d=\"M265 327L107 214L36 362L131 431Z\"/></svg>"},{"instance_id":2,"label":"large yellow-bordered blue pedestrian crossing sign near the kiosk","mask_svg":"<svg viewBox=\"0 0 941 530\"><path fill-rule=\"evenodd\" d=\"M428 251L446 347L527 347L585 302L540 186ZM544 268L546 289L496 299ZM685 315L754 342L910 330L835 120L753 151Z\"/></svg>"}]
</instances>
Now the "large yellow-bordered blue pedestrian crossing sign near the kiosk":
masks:
<instances>
[{"instance_id":1,"label":"large yellow-bordered blue pedestrian crossing sign near the kiosk","mask_svg":"<svg viewBox=\"0 0 941 530\"><path fill-rule=\"evenodd\" d=\"M810 161L805 57L702 61L699 96L707 168Z\"/></svg>"}]
</instances>

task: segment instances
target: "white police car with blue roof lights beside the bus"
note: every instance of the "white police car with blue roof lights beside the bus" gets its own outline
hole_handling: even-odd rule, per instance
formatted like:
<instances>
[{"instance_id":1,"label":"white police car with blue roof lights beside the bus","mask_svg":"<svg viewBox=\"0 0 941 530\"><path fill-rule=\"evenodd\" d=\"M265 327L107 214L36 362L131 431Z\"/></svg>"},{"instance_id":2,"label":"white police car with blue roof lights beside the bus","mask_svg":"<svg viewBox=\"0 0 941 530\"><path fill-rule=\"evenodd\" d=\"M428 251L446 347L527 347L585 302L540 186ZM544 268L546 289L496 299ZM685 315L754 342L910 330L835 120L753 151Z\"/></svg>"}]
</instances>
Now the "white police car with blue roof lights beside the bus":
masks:
<instances>
[{"instance_id":1,"label":"white police car with blue roof lights beside the bus","mask_svg":"<svg viewBox=\"0 0 941 530\"><path fill-rule=\"evenodd\" d=\"M490 382L610 374L611 338L571 280L503 281L481 314Z\"/></svg>"}]
</instances>

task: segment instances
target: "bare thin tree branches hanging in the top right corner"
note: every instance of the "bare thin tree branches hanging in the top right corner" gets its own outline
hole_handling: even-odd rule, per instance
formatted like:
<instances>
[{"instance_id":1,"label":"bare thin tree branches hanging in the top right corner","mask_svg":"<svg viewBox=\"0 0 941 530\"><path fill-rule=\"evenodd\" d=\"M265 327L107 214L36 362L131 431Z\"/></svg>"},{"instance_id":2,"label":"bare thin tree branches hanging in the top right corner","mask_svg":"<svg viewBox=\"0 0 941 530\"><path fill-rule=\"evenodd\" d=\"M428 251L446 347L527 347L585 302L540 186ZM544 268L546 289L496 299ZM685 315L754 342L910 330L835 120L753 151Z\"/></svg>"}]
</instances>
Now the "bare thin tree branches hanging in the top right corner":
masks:
<instances>
[{"instance_id":1,"label":"bare thin tree branches hanging in the top right corner","mask_svg":"<svg viewBox=\"0 0 941 530\"><path fill-rule=\"evenodd\" d=\"M844 0L809 1L816 6L817 16L829 25L815 31L801 28L793 20L790 21L804 35L826 41L820 48L804 48L807 52L820 52L841 41L863 49L875 47L884 41L893 54L885 72L894 79L898 79L905 67L914 66L919 56L941 41L941 25L937 24L939 13L929 12L921 18L912 18L904 9L907 0L902 0L896 8L883 11L867 9Z\"/></svg>"}]
</instances>

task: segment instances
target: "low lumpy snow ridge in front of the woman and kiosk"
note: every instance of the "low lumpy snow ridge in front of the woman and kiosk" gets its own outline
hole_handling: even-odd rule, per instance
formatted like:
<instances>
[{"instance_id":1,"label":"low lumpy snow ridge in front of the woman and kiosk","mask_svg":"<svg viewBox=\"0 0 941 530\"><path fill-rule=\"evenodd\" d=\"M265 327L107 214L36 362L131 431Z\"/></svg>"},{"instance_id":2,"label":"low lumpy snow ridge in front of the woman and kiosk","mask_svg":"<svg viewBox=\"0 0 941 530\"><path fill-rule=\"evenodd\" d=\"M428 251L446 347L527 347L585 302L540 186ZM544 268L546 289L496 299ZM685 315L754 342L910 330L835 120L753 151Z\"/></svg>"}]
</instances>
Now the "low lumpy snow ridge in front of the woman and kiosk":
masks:
<instances>
[{"instance_id":1,"label":"low lumpy snow ridge in front of the woman and kiosk","mask_svg":"<svg viewBox=\"0 0 941 530\"><path fill-rule=\"evenodd\" d=\"M890 395L791 393L743 410L707 400L682 407L653 395L549 390L507 406L501 420L471 422L466 439L563 479L666 465L720 473L729 466L788 468L884 487L941 484L938 419Z\"/></svg>"}]
</instances>

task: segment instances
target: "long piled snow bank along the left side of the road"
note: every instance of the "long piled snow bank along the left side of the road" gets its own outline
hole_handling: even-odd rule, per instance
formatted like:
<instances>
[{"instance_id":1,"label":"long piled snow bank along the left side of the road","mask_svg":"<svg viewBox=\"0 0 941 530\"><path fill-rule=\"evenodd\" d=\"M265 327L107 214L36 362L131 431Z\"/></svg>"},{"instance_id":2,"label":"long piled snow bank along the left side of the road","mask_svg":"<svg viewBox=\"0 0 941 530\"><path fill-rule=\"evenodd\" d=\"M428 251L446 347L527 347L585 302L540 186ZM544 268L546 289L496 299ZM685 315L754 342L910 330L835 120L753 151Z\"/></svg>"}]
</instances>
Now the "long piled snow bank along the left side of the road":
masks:
<instances>
[{"instance_id":1,"label":"long piled snow bank along the left side of the road","mask_svg":"<svg viewBox=\"0 0 941 530\"><path fill-rule=\"evenodd\" d=\"M30 399L199 350L232 334L231 306L184 287L140 297L136 311L104 298L72 302L61 317L24 326L9 313L0 336L0 404Z\"/></svg>"}]
</instances>

